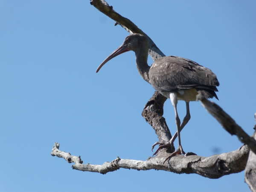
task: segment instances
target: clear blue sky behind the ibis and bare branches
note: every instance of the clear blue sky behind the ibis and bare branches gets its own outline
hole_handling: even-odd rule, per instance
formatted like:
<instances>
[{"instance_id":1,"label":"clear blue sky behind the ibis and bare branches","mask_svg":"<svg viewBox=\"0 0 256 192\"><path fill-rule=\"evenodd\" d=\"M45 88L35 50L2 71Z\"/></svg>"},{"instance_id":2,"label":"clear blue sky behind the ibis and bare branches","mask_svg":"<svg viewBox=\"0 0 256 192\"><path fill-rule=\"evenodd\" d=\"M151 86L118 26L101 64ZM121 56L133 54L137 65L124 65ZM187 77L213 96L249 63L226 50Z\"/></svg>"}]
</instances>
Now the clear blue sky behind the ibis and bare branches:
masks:
<instances>
[{"instance_id":1,"label":"clear blue sky behind the ibis and bare branches","mask_svg":"<svg viewBox=\"0 0 256 192\"><path fill-rule=\"evenodd\" d=\"M108 3L166 55L210 68L220 81L219 101L212 100L253 134L256 1ZM60 150L90 164L152 156L157 136L141 112L154 89L138 74L134 52L95 73L128 35L114 23L89 0L0 1L0 191L250 191L244 172L214 180L154 170L101 175L72 170L64 159L50 155L58 142ZM181 132L184 151L207 157L242 145L200 102L190 108L191 120ZM169 101L164 110L174 134ZM178 113L185 115L184 102Z\"/></svg>"}]
</instances>

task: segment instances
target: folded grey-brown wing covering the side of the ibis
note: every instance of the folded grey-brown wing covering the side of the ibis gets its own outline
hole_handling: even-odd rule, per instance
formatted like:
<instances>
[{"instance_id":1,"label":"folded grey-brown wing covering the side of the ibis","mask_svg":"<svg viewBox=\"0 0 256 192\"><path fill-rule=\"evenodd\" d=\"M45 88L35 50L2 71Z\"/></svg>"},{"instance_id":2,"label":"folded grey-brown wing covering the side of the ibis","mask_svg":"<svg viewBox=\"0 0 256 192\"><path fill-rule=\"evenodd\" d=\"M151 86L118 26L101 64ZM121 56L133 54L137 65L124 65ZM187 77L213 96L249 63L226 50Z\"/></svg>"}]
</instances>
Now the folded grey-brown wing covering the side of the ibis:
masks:
<instances>
[{"instance_id":1,"label":"folded grey-brown wing covering the side of the ibis","mask_svg":"<svg viewBox=\"0 0 256 192\"><path fill-rule=\"evenodd\" d=\"M167 56L155 61L149 70L151 85L157 91L202 88L218 91L218 79L211 70L186 58Z\"/></svg>"}]
</instances>

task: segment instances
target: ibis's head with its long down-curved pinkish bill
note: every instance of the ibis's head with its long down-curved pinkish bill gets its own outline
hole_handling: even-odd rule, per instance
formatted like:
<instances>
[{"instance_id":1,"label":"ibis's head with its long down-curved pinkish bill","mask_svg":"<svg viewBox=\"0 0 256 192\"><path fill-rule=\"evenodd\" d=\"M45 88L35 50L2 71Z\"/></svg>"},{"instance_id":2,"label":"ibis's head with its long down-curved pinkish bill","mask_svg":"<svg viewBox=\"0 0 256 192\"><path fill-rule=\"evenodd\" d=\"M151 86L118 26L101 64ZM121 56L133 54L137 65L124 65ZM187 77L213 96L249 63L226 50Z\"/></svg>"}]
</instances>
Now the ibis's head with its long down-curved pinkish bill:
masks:
<instances>
[{"instance_id":1,"label":"ibis's head with its long down-curved pinkish bill","mask_svg":"<svg viewBox=\"0 0 256 192\"><path fill-rule=\"evenodd\" d=\"M147 39L138 33L134 33L131 35L128 35L125 38L125 41L122 43L120 47L118 47L116 50L114 50L98 67L96 70L96 73L102 68L102 66L107 63L112 58L116 57L117 55L120 55L127 51L134 51L136 52L137 49L140 49L141 46L147 46L148 47L148 41Z\"/></svg>"}]
</instances>

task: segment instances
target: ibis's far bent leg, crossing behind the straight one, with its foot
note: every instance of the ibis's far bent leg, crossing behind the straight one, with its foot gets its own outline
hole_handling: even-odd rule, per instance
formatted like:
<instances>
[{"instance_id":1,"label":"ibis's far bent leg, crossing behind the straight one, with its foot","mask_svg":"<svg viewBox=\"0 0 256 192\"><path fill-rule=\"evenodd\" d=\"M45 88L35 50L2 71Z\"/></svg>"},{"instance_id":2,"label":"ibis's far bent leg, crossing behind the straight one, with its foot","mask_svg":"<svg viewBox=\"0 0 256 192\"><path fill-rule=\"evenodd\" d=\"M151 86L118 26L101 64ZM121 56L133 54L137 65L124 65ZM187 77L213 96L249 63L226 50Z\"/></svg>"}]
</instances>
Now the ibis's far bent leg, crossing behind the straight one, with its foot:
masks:
<instances>
[{"instance_id":1,"label":"ibis's far bent leg, crossing behind the straight one, with its foot","mask_svg":"<svg viewBox=\"0 0 256 192\"><path fill-rule=\"evenodd\" d=\"M189 102L186 102L186 116L183 119L183 122L180 125L180 131L185 127L185 125L189 122L190 119L190 113L189 113ZM155 154L157 154L157 152L161 149L161 148L165 148L165 147L173 147L173 142L175 141L175 139L177 138L178 132L176 131L176 133L174 134L174 136L172 137L172 139L169 140L168 143L164 143L164 142L157 142L154 143L154 145L152 145L152 151L155 145L159 145L159 147L157 148L157 150L155 151L155 153L153 154L153 156ZM185 153L183 153L185 154Z\"/></svg>"}]
</instances>

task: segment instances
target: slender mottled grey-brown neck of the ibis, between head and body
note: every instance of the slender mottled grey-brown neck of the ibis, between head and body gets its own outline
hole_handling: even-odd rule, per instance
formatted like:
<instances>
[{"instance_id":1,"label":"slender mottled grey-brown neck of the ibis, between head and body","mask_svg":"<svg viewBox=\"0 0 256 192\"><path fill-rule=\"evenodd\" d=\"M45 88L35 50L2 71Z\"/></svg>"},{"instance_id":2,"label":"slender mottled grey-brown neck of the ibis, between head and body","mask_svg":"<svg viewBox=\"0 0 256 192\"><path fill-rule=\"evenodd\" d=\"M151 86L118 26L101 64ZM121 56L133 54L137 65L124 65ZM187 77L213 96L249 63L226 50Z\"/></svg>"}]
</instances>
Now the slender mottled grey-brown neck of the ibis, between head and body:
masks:
<instances>
[{"instance_id":1,"label":"slender mottled grey-brown neck of the ibis, between head and body","mask_svg":"<svg viewBox=\"0 0 256 192\"><path fill-rule=\"evenodd\" d=\"M140 47L135 51L136 56L136 65L137 70L140 73L140 76L149 82L148 72L150 69L150 66L148 66L148 48L147 47Z\"/></svg>"}]
</instances>

